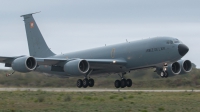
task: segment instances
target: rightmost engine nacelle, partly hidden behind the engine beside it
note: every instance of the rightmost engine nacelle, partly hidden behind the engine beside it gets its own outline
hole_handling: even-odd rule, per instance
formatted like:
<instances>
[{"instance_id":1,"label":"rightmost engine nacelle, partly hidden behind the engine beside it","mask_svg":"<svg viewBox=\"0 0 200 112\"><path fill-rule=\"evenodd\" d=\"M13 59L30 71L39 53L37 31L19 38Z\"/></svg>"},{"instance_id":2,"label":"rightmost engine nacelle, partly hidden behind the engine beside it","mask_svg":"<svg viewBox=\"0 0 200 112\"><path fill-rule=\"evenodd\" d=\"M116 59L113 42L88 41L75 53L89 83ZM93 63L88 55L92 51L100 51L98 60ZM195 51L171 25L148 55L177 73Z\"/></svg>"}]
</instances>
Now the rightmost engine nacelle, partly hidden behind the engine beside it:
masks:
<instances>
[{"instance_id":1,"label":"rightmost engine nacelle, partly hidden behind the engine beside it","mask_svg":"<svg viewBox=\"0 0 200 112\"><path fill-rule=\"evenodd\" d=\"M180 60L178 62L181 65L181 73L180 74L188 73L192 70L192 63L190 60Z\"/></svg>"}]
</instances>

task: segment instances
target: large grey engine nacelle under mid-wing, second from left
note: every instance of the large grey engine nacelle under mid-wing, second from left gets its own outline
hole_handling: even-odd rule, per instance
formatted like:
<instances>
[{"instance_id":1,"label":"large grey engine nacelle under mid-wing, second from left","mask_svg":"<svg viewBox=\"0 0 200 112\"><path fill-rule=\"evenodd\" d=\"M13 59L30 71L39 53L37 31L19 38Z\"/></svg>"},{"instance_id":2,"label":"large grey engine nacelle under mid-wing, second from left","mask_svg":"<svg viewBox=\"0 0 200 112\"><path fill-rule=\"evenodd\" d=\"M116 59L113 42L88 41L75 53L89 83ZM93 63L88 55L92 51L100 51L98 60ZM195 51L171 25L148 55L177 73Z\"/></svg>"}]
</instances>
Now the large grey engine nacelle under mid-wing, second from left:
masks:
<instances>
[{"instance_id":1,"label":"large grey engine nacelle under mid-wing, second from left","mask_svg":"<svg viewBox=\"0 0 200 112\"><path fill-rule=\"evenodd\" d=\"M90 65L86 60L77 59L67 62L64 71L69 75L84 75L89 71Z\"/></svg>"}]
</instances>

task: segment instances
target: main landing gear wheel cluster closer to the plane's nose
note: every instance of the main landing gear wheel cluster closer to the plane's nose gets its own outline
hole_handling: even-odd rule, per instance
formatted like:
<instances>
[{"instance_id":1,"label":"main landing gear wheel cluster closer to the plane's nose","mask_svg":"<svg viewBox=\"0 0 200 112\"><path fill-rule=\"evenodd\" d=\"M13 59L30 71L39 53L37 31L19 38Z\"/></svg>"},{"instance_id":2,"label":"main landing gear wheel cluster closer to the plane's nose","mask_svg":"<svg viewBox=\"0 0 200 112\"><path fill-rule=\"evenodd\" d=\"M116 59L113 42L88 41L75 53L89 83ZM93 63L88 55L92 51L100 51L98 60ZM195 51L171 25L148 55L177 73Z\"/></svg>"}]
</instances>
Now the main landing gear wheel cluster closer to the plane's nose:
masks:
<instances>
[{"instance_id":1,"label":"main landing gear wheel cluster closer to the plane's nose","mask_svg":"<svg viewBox=\"0 0 200 112\"><path fill-rule=\"evenodd\" d=\"M125 88L125 87L131 87L132 86L132 80L131 79L125 79L124 78L125 74L126 73L122 73L121 76L119 74L119 76L121 77L121 80L115 81L114 85L115 85L116 88L120 88L120 87Z\"/></svg>"}]
</instances>

